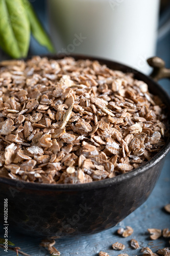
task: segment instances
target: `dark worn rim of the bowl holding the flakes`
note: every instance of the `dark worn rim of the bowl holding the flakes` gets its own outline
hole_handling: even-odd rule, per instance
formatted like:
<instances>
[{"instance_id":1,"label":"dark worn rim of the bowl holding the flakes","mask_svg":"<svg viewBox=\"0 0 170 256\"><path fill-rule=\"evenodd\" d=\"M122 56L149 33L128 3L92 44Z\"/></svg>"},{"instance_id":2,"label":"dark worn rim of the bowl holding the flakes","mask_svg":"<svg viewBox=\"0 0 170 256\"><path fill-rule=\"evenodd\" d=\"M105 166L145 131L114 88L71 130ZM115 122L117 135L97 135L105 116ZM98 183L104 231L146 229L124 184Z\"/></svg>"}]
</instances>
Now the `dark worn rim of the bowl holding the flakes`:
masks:
<instances>
[{"instance_id":1,"label":"dark worn rim of the bowl holding the flakes","mask_svg":"<svg viewBox=\"0 0 170 256\"><path fill-rule=\"evenodd\" d=\"M47 57L48 59L62 59L64 57L73 57L76 60L78 59L90 59L90 60L97 60L107 66L109 65L117 65L117 70L127 70L127 72L132 72L134 74L138 74L144 79L147 79L150 83L153 83L155 87L158 88L158 90L161 91L161 93L164 95L166 101L170 102L170 97L166 93L166 91L157 83L155 82L151 77L141 73L140 71L137 71L136 69L131 68L130 66L124 65L123 63L108 60L105 58L98 58L95 56L88 56L88 55L81 55L81 54L43 54L43 55L33 55L33 56L40 56L40 57ZM29 60L33 56L28 56L27 58L24 58L23 60ZM142 79L141 79L142 80ZM132 179L133 177L137 175L141 175L144 172L147 172L150 168L153 168L158 162L160 162L170 151L170 137L168 138L167 142L163 146L160 152L158 152L151 160L144 163L143 165L131 170L128 173L118 175L113 178L104 179L100 181L92 181L88 183L78 183L78 184L48 184L48 183L35 183L35 182L27 182L27 181L20 181L20 180L14 180L11 178L6 177L0 177L0 184L7 184L10 186L15 186L16 188L19 186L19 184L22 184L22 188L18 188L20 191L21 189L29 189L29 190L49 190L49 191L75 191L75 190L89 190L89 189L98 189L98 188L104 188L108 186L112 186L115 183L123 183L126 180Z\"/></svg>"}]
</instances>

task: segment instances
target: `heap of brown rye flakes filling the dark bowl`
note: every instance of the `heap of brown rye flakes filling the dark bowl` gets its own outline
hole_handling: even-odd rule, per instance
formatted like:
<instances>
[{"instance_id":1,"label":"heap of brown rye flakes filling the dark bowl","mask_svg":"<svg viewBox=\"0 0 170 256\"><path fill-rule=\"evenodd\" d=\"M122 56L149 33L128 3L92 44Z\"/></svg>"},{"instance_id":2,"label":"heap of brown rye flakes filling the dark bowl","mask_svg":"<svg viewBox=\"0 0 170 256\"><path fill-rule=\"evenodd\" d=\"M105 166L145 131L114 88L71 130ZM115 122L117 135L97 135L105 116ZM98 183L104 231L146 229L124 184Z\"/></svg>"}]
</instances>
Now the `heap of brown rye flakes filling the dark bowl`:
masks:
<instances>
[{"instance_id":1,"label":"heap of brown rye flakes filling the dark bowl","mask_svg":"<svg viewBox=\"0 0 170 256\"><path fill-rule=\"evenodd\" d=\"M2 177L50 184L112 178L150 160L166 141L160 99L133 74L98 61L5 61L0 94Z\"/></svg>"}]
</instances>

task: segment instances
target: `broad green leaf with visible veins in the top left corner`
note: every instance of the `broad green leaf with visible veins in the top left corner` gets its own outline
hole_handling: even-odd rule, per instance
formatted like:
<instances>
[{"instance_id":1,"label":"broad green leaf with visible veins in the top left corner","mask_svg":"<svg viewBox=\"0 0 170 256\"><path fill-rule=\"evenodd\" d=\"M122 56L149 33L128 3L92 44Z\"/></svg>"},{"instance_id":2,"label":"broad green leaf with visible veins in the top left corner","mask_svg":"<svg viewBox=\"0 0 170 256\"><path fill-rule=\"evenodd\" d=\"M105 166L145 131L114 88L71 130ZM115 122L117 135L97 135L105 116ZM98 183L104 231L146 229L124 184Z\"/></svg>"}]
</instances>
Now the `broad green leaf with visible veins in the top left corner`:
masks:
<instances>
[{"instance_id":1,"label":"broad green leaf with visible veins in the top left corner","mask_svg":"<svg viewBox=\"0 0 170 256\"><path fill-rule=\"evenodd\" d=\"M30 23L22 0L0 0L0 47L11 57L26 57Z\"/></svg>"}]
</instances>

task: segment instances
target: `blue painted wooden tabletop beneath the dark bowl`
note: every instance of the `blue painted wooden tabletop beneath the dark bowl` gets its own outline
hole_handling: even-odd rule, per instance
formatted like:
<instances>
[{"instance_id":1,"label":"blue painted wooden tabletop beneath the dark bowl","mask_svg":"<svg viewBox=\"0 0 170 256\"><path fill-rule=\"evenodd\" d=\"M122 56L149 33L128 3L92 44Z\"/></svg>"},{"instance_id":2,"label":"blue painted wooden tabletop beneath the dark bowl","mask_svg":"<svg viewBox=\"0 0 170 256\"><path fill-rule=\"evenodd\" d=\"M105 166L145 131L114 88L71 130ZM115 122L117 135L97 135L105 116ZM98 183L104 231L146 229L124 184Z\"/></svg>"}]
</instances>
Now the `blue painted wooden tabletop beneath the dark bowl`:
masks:
<instances>
[{"instance_id":1,"label":"blue painted wooden tabletop beneath the dark bowl","mask_svg":"<svg viewBox=\"0 0 170 256\"><path fill-rule=\"evenodd\" d=\"M36 6L41 1L34 2ZM41 6L38 5L38 14L40 18L43 17L44 1L41 2ZM38 44L32 39L31 41L31 53L44 54L46 50L39 47ZM170 33L158 41L157 55L162 57L166 61L166 66L170 68ZM170 95L170 82L168 80L162 80L162 87ZM154 252L158 248L168 246L168 243L163 239L151 241L147 234L148 228L170 228L170 215L164 210L163 206L170 203L170 154L166 157L165 165L162 170L162 174L159 178L157 185L154 188L150 198L124 221L119 223L116 227L103 231L98 234L94 234L88 237L81 237L71 240L58 240L56 242L56 248L61 252L62 256L95 256L98 255L100 250L106 251L109 255L118 255L121 252L114 251L111 245L117 241L126 245L126 249L123 251L129 255L139 255L140 249L130 249L129 241L134 238L139 242L139 245L149 246ZM129 225L133 227L134 233L129 238L120 238L115 233L121 226ZM19 231L19 230L18 230ZM47 251L39 247L39 238L24 236L9 229L9 240L15 243L16 246L21 247L22 251L29 253L32 256L45 256L48 255ZM0 237L3 237L3 232L0 231ZM14 252L8 251L5 253L0 249L0 255L13 256Z\"/></svg>"}]
</instances>

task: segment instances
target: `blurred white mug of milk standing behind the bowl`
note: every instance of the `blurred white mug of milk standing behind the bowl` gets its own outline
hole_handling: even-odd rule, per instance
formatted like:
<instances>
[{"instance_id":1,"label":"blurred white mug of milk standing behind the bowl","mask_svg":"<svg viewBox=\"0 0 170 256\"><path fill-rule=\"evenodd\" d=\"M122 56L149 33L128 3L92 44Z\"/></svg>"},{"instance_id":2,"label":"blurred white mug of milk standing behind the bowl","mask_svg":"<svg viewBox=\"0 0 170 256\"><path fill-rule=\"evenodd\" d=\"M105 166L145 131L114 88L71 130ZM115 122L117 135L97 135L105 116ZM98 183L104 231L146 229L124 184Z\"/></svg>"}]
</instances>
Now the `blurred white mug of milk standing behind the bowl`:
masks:
<instances>
[{"instance_id":1,"label":"blurred white mug of milk standing behind the bowl","mask_svg":"<svg viewBox=\"0 0 170 256\"><path fill-rule=\"evenodd\" d=\"M47 5L57 51L149 72L145 60L155 55L159 0L48 0Z\"/></svg>"}]
</instances>

